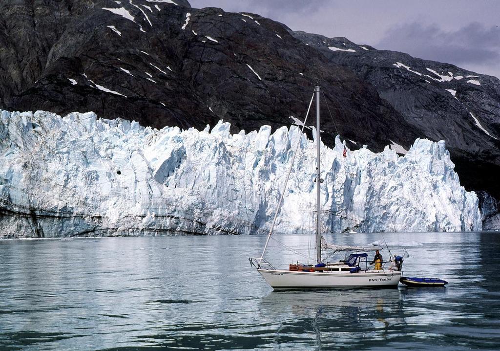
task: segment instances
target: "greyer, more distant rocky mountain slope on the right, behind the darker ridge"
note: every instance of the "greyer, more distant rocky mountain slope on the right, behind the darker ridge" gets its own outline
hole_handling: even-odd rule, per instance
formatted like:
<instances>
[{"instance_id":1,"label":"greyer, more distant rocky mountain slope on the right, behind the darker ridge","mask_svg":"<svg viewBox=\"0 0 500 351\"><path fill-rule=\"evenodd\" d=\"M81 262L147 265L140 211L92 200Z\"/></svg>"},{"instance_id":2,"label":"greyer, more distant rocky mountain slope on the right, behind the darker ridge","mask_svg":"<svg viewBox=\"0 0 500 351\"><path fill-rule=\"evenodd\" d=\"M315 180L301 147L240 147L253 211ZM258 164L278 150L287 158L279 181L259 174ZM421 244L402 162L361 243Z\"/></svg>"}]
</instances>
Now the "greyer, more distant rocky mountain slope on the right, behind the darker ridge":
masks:
<instances>
[{"instance_id":1,"label":"greyer, more distant rocky mountain slope on the right, behind the darker ridge","mask_svg":"<svg viewBox=\"0 0 500 351\"><path fill-rule=\"evenodd\" d=\"M499 195L500 81L345 38L291 34L332 63L370 83L379 96L431 140L446 140L462 184Z\"/></svg>"}]
</instances>

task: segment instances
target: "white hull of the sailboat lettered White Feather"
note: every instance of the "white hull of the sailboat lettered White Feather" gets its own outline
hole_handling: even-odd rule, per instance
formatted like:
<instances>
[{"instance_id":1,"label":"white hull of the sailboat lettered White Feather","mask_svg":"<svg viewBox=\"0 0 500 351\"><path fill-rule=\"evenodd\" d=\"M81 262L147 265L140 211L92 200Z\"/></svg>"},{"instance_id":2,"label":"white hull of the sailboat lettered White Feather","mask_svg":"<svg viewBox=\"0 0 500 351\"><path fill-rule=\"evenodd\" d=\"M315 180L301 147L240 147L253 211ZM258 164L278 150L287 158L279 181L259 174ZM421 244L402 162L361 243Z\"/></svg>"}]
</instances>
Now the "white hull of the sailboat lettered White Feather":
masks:
<instances>
[{"instance_id":1,"label":"white hull of the sailboat lettered White Feather","mask_svg":"<svg viewBox=\"0 0 500 351\"><path fill-rule=\"evenodd\" d=\"M273 289L396 288L400 271L301 272L257 269Z\"/></svg>"}]
</instances>

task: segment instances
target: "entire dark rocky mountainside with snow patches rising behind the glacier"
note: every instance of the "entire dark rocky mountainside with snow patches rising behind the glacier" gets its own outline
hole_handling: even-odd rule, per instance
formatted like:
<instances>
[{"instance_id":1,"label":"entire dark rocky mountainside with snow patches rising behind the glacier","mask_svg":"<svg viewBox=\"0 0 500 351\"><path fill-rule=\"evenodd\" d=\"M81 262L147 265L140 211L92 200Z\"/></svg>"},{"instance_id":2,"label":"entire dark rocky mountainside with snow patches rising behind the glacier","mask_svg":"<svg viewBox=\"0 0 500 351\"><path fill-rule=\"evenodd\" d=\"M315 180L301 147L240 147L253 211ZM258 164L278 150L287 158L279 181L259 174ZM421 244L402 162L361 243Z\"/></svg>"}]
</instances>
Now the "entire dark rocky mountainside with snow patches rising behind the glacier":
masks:
<instances>
[{"instance_id":1,"label":"entire dark rocky mountainside with snow patches rising behind the glacier","mask_svg":"<svg viewBox=\"0 0 500 351\"><path fill-rule=\"evenodd\" d=\"M303 117L317 83L327 145L336 134L374 151L442 139L467 189L500 194L496 78L185 0L16 0L0 9L1 109L274 130Z\"/></svg>"}]
</instances>

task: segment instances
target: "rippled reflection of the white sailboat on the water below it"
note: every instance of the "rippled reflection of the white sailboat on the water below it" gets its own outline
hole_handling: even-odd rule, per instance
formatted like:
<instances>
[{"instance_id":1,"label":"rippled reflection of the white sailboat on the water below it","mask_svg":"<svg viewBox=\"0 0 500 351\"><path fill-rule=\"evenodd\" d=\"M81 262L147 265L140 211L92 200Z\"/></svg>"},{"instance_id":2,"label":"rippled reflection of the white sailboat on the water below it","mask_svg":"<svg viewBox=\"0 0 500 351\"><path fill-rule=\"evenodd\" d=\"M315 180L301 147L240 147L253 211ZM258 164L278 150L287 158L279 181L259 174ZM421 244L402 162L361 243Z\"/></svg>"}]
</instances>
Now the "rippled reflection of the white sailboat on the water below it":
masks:
<instances>
[{"instance_id":1,"label":"rippled reflection of the white sailboat on the water below it","mask_svg":"<svg viewBox=\"0 0 500 351\"><path fill-rule=\"evenodd\" d=\"M278 332L283 338L301 328L295 337L313 342L316 349L326 344L366 346L405 335L403 293L400 289L273 291L261 298L259 309L266 319L281 321Z\"/></svg>"}]
</instances>

